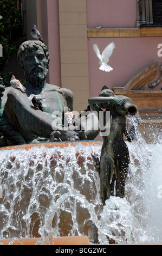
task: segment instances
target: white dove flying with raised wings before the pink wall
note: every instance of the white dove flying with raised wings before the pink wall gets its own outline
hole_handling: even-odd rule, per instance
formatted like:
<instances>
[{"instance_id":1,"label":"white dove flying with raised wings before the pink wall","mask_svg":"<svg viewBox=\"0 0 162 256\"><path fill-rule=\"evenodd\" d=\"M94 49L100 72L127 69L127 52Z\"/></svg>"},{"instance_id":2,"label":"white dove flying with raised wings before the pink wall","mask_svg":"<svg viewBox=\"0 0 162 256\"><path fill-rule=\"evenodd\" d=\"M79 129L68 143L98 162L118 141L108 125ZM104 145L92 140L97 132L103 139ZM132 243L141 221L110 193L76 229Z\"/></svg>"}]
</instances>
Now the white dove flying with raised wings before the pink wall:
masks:
<instances>
[{"instance_id":1,"label":"white dove flying with raised wings before the pink wall","mask_svg":"<svg viewBox=\"0 0 162 256\"><path fill-rule=\"evenodd\" d=\"M107 45L105 50L103 50L102 55L100 54L98 45L94 44L93 45L93 50L96 53L96 56L99 58L99 64L100 64L100 70L109 72L112 71L113 68L109 66L107 63L109 61L109 57L111 57L113 50L115 48L114 42L111 42L111 44Z\"/></svg>"}]
</instances>

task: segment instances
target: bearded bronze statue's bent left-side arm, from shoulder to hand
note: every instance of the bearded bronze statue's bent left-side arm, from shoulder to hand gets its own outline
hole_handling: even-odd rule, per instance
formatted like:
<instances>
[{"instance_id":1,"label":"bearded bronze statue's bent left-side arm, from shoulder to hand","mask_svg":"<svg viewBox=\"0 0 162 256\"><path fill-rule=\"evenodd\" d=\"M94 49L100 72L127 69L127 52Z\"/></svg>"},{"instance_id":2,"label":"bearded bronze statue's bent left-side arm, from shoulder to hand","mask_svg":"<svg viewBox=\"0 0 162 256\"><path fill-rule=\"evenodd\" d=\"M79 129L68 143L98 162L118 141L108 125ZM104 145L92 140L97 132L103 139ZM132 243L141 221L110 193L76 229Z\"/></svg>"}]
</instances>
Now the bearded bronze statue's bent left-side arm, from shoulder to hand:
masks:
<instances>
[{"instance_id":1,"label":"bearded bronze statue's bent left-side arm, from shoulder to hand","mask_svg":"<svg viewBox=\"0 0 162 256\"><path fill-rule=\"evenodd\" d=\"M44 138L50 138L51 133L60 131L60 136L63 137L63 141L72 140L72 137L76 139L75 132L64 131L61 126L53 123L53 120L49 119L44 112L35 110L31 106L28 97L14 88L8 93L4 111L13 125L22 127L24 131L29 133ZM71 135L71 133L73 134Z\"/></svg>"}]
</instances>

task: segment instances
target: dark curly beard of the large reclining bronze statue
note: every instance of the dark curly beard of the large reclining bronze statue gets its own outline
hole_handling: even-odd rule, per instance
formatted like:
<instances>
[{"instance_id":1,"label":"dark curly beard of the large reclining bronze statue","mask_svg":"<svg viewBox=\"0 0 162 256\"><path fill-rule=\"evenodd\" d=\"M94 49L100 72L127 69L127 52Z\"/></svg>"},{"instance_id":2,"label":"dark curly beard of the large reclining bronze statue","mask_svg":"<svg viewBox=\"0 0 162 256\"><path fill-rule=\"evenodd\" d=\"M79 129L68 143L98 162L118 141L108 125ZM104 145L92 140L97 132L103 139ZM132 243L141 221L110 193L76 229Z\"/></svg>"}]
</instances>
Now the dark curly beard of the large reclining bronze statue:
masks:
<instances>
[{"instance_id":1,"label":"dark curly beard of the large reclining bronze statue","mask_svg":"<svg viewBox=\"0 0 162 256\"><path fill-rule=\"evenodd\" d=\"M30 74L27 75L27 80L31 83L34 84L36 87L40 87L43 83L44 80L46 80L48 74L48 69L46 71L43 70L42 67L39 68L33 68L30 71Z\"/></svg>"}]
</instances>

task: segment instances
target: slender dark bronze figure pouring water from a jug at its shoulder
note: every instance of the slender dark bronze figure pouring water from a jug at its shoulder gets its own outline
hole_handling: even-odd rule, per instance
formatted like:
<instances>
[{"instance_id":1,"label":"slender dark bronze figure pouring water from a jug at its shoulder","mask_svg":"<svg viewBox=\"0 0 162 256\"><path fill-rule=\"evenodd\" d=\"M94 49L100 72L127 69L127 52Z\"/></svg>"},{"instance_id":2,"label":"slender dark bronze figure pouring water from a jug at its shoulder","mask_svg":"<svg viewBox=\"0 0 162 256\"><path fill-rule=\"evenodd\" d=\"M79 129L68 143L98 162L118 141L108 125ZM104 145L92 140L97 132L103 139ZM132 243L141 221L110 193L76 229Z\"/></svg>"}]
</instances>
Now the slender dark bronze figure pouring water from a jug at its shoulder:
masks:
<instances>
[{"instance_id":1,"label":"slender dark bronze figure pouring water from a jug at its shoulder","mask_svg":"<svg viewBox=\"0 0 162 256\"><path fill-rule=\"evenodd\" d=\"M100 193L103 205L105 201L114 196L114 181L116 181L116 197L125 196L125 182L129 168L129 152L123 135L129 142L134 139L134 126L127 129L126 114L137 113L137 107L126 96L115 96L106 86L102 88L98 97L88 100L93 111L103 112L103 122L106 113L110 113L109 132L102 130L103 144L100 161L96 161L96 169L100 175ZM98 115L100 117L100 115ZM105 124L106 127L106 124Z\"/></svg>"}]
</instances>

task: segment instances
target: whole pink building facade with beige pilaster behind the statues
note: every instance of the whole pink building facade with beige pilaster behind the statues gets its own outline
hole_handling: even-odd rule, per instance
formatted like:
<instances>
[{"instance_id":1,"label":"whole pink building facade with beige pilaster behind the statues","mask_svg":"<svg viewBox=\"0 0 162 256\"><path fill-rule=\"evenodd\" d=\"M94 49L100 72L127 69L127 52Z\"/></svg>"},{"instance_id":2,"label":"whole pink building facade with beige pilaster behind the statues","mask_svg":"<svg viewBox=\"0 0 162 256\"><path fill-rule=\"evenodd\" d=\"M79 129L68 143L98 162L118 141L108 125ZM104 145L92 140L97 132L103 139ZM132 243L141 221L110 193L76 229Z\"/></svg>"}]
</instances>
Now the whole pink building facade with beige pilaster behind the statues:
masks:
<instances>
[{"instance_id":1,"label":"whole pink building facade with beige pilaster behind the statues","mask_svg":"<svg viewBox=\"0 0 162 256\"><path fill-rule=\"evenodd\" d=\"M88 98L98 96L106 85L132 96L142 118L150 112L151 118L161 120L160 0L23 0L23 8L27 39L32 39L36 23L49 48L47 82L73 91L75 111L83 111ZM99 69L93 44L102 52L110 42L115 44L109 59L113 71L105 72Z\"/></svg>"}]
</instances>

